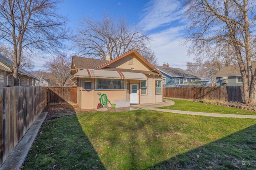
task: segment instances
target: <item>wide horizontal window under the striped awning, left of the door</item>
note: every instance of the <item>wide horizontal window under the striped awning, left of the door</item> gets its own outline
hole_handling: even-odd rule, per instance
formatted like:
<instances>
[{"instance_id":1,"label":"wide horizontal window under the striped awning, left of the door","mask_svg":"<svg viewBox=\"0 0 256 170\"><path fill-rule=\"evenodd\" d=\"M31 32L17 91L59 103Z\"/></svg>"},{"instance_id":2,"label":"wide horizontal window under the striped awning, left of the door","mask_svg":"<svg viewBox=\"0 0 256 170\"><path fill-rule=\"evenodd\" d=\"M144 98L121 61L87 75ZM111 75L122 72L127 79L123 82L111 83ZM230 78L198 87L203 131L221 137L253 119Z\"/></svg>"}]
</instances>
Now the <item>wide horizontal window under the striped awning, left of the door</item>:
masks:
<instances>
[{"instance_id":1,"label":"wide horizontal window under the striped awning, left of the door","mask_svg":"<svg viewBox=\"0 0 256 170\"><path fill-rule=\"evenodd\" d=\"M111 79L97 79L96 87L97 90L124 90L124 80L111 80Z\"/></svg>"}]
</instances>

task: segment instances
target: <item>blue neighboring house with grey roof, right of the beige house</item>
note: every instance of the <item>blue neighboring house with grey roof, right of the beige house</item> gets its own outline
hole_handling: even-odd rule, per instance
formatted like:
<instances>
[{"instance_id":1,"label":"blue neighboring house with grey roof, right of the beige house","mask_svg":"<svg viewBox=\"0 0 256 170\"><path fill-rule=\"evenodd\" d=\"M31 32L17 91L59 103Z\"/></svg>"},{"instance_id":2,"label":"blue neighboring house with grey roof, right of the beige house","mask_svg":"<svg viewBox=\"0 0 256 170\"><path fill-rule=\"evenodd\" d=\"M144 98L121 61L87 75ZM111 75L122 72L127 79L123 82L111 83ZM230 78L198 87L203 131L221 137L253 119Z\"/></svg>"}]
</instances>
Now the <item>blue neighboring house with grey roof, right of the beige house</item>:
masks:
<instances>
[{"instance_id":1,"label":"blue neighboring house with grey roof, right of the beige house","mask_svg":"<svg viewBox=\"0 0 256 170\"><path fill-rule=\"evenodd\" d=\"M198 82L202 80L202 78L188 71L182 70L180 68L169 67L169 64L163 64L163 66L154 67L156 67L157 70L159 70L165 76L163 80L164 87L179 87L185 82ZM196 83L194 85L196 85ZM206 84L203 86L206 86Z\"/></svg>"}]
</instances>

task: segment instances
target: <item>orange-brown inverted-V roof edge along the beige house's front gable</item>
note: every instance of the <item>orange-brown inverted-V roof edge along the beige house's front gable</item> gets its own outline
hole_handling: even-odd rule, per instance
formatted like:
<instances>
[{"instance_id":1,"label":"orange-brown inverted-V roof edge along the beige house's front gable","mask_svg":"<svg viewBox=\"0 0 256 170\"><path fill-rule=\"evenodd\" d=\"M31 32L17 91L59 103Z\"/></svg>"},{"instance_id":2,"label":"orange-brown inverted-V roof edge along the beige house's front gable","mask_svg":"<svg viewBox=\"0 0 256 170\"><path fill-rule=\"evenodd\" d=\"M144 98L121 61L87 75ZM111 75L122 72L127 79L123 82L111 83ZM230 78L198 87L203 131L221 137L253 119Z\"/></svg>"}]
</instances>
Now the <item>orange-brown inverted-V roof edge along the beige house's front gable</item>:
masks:
<instances>
[{"instance_id":1,"label":"orange-brown inverted-V roof edge along the beige house's front gable","mask_svg":"<svg viewBox=\"0 0 256 170\"><path fill-rule=\"evenodd\" d=\"M104 64L98 66L96 69L100 70L100 69L102 69L104 67L107 67L109 64L112 64L112 63L114 63L114 62L116 62L116 61L126 57L127 55L132 54L132 53L136 54L142 61L144 61L144 63L146 63L149 67L151 67L152 70L154 70L156 73L162 74L152 64L150 64L144 57L142 57L142 55L140 55L140 53L138 53L136 50L128 51L127 53L124 53L123 55L121 55L119 57L116 57L115 59L112 59L112 60L108 61L107 63L104 63Z\"/></svg>"}]
</instances>

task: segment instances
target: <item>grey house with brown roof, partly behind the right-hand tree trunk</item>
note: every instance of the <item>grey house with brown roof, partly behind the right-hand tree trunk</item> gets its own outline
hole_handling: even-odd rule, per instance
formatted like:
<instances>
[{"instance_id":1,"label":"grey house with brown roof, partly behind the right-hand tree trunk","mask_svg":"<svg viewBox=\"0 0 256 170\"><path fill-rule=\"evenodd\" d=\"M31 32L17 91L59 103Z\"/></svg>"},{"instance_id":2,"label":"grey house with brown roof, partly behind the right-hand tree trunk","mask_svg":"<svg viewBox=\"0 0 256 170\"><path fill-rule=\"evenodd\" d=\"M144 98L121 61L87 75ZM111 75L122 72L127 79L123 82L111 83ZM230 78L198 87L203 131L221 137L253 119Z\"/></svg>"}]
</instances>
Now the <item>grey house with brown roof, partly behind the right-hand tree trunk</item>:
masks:
<instances>
[{"instance_id":1,"label":"grey house with brown roof, partly behind the right-hand tree trunk","mask_svg":"<svg viewBox=\"0 0 256 170\"><path fill-rule=\"evenodd\" d=\"M247 67L247 66L246 66ZM256 68L256 61L252 61L252 70ZM238 64L224 66L215 74L216 86L242 86L242 76Z\"/></svg>"}]
</instances>

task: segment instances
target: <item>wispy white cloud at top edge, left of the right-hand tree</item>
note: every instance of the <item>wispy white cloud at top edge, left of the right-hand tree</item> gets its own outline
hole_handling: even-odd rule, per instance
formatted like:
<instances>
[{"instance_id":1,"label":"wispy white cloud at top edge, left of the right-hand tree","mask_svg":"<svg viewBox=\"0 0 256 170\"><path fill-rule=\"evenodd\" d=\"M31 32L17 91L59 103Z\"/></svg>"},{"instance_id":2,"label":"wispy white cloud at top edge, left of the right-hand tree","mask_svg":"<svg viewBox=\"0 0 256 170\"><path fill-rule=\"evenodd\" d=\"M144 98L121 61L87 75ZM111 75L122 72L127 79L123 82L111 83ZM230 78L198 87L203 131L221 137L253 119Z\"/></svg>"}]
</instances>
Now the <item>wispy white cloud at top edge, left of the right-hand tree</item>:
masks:
<instances>
[{"instance_id":1,"label":"wispy white cloud at top edge, left of the right-hand tree","mask_svg":"<svg viewBox=\"0 0 256 170\"><path fill-rule=\"evenodd\" d=\"M178 0L150 0L144 9L140 25L149 31L170 25L172 21L181 21L183 13L184 9Z\"/></svg>"}]
</instances>

